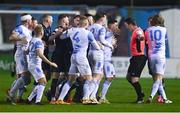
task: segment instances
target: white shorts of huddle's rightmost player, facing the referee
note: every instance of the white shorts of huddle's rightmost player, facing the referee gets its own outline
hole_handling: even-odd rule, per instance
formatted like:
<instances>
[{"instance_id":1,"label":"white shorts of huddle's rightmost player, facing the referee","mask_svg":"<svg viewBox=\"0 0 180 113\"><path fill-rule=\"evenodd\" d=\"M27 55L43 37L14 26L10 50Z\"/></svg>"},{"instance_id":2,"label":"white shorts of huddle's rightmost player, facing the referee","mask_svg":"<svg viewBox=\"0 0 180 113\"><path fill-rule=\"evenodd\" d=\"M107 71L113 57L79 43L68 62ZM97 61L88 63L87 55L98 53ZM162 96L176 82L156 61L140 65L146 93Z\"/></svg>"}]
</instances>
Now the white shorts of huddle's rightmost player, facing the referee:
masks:
<instances>
[{"instance_id":1,"label":"white shorts of huddle's rightmost player, facing the referee","mask_svg":"<svg viewBox=\"0 0 180 113\"><path fill-rule=\"evenodd\" d=\"M115 69L114 69L114 65L111 62L108 61L104 62L104 74L106 78L114 77Z\"/></svg>"}]
</instances>

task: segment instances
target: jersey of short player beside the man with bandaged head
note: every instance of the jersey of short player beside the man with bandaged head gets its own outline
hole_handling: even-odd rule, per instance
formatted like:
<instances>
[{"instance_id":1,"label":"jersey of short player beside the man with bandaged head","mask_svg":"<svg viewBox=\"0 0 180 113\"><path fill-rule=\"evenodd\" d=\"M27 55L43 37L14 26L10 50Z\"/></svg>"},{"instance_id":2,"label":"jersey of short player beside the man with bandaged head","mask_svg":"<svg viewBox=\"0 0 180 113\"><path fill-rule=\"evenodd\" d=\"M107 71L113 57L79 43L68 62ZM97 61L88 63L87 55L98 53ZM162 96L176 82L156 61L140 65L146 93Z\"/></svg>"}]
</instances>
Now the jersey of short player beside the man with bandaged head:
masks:
<instances>
[{"instance_id":1,"label":"jersey of short player beside the man with bandaged head","mask_svg":"<svg viewBox=\"0 0 180 113\"><path fill-rule=\"evenodd\" d=\"M32 38L29 45L29 64L41 64L42 59L37 55L37 49L44 51L44 44L40 38Z\"/></svg>"}]
</instances>

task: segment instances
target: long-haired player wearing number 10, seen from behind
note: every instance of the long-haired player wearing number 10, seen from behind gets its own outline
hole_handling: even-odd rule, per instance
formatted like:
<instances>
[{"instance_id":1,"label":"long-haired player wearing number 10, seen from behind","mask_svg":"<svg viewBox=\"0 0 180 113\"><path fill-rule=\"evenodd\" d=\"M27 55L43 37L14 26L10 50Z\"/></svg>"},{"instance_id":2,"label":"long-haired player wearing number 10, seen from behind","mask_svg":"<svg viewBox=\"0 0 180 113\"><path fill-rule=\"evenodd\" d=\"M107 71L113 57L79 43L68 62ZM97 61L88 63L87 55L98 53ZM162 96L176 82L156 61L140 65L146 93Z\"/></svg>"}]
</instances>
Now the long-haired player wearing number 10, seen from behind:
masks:
<instances>
[{"instance_id":1,"label":"long-haired player wearing number 10, seen from behind","mask_svg":"<svg viewBox=\"0 0 180 113\"><path fill-rule=\"evenodd\" d=\"M160 15L154 15L151 25L152 26L146 30L145 35L148 41L148 59L154 83L147 103L152 102L158 90L164 99L164 103L172 103L172 101L167 99L162 84L166 65L165 49L167 40L167 30L164 27L164 19Z\"/></svg>"}]
</instances>

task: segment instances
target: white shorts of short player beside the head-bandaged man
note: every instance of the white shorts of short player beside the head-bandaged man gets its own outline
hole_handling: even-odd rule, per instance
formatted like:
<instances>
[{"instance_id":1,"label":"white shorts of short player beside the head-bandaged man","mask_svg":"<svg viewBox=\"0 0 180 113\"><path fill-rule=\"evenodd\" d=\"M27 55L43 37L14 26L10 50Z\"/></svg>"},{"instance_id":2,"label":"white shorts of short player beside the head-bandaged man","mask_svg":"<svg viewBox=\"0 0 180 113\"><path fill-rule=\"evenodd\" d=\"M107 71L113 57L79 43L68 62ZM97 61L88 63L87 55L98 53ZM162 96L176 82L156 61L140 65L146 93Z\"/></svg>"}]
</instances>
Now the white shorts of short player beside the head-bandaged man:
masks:
<instances>
[{"instance_id":1,"label":"white shorts of short player beside the head-bandaged man","mask_svg":"<svg viewBox=\"0 0 180 113\"><path fill-rule=\"evenodd\" d=\"M28 70L33 75L36 82L41 78L45 78L41 65L29 64Z\"/></svg>"}]
</instances>

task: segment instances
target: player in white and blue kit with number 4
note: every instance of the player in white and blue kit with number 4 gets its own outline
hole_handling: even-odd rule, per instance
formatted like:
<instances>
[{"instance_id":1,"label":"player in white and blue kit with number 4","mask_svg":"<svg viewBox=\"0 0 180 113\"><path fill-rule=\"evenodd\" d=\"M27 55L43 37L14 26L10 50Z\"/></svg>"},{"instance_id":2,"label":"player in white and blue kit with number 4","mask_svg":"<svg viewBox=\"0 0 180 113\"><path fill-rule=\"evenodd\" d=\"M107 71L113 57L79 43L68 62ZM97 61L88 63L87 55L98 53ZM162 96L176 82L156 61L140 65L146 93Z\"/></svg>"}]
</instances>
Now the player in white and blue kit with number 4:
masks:
<instances>
[{"instance_id":1,"label":"player in white and blue kit with number 4","mask_svg":"<svg viewBox=\"0 0 180 113\"><path fill-rule=\"evenodd\" d=\"M79 27L75 28L75 30L73 30L72 33L70 33L70 38L73 45L73 54L71 56L69 79L63 86L56 104L67 104L66 102L63 101L64 97L69 91L78 73L80 73L80 75L83 76L83 78L86 80L83 87L84 96L83 96L82 103L87 104L90 102L89 96L91 92L89 89L90 89L90 86L93 84L93 82L92 82L91 68L89 66L89 62L86 57L88 43L91 43L95 47L95 49L99 50L100 47L97 44L96 40L94 39L93 34L90 31L86 30L88 25L89 25L88 19L84 16L81 16Z\"/></svg>"}]
</instances>

